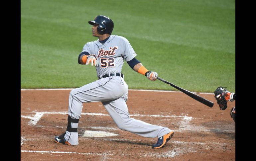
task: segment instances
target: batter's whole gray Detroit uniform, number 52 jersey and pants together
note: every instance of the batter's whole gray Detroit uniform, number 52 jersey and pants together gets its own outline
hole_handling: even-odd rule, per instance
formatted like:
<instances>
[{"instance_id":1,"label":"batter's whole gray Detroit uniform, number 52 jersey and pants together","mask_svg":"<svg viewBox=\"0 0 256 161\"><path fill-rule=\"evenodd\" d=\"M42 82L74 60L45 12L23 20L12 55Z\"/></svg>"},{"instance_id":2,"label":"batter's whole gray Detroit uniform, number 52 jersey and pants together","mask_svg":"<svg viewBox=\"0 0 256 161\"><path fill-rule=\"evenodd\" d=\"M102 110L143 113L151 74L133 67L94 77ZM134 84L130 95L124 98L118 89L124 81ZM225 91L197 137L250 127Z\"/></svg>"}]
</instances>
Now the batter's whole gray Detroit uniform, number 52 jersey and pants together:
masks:
<instances>
[{"instance_id":1,"label":"batter's whole gray Detroit uniform, number 52 jersey and pants together","mask_svg":"<svg viewBox=\"0 0 256 161\"><path fill-rule=\"evenodd\" d=\"M127 39L111 35L104 44L101 44L99 40L86 43L83 51L95 54L98 61L96 71L100 79L70 92L68 115L72 119L80 119L83 103L102 102L113 121L122 130L152 138L161 137L172 131L167 127L152 125L129 116L126 105L128 86L121 77L121 70L124 60L133 59L136 53ZM111 76L109 73L115 74ZM116 73L120 73L120 76ZM103 78L105 74L109 74L109 77ZM78 123L71 122L70 124L71 128L78 127ZM77 132L66 131L64 138L71 145L78 145Z\"/></svg>"}]
</instances>

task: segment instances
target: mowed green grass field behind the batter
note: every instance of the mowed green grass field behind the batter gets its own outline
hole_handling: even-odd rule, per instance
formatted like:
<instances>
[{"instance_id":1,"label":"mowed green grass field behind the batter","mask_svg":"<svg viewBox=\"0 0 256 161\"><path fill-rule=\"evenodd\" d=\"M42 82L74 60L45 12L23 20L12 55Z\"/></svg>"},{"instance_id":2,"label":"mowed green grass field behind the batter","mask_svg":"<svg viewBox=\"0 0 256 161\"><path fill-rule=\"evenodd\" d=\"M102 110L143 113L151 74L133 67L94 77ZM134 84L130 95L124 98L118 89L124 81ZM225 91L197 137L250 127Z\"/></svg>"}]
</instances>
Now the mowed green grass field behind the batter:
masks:
<instances>
[{"instance_id":1,"label":"mowed green grass field behind the batter","mask_svg":"<svg viewBox=\"0 0 256 161\"><path fill-rule=\"evenodd\" d=\"M21 88L76 88L97 79L77 57L94 41L88 21L109 16L143 65L189 91L235 92L234 0L21 0ZM176 90L126 62L130 89Z\"/></svg>"}]
</instances>

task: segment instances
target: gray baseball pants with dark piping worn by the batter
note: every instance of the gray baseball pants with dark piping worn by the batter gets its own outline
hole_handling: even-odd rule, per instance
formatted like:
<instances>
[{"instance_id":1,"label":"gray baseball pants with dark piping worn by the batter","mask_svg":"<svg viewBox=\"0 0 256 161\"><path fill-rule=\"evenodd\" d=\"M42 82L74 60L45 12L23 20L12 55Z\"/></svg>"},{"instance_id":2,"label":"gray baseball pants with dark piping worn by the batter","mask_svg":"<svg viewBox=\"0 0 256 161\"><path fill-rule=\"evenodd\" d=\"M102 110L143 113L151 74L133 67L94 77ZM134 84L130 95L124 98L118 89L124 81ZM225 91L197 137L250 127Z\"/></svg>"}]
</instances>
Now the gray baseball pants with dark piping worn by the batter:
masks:
<instances>
[{"instance_id":1,"label":"gray baseball pants with dark piping worn by the batter","mask_svg":"<svg viewBox=\"0 0 256 161\"><path fill-rule=\"evenodd\" d=\"M130 118L126 105L127 99L128 86L122 77L102 78L70 92L68 115L72 119L80 119L83 103L102 102L108 114L121 130L151 138L161 137L172 131L167 127ZM77 127L78 123L71 123L71 128ZM78 145L77 132L66 131L64 138L71 145Z\"/></svg>"}]
</instances>

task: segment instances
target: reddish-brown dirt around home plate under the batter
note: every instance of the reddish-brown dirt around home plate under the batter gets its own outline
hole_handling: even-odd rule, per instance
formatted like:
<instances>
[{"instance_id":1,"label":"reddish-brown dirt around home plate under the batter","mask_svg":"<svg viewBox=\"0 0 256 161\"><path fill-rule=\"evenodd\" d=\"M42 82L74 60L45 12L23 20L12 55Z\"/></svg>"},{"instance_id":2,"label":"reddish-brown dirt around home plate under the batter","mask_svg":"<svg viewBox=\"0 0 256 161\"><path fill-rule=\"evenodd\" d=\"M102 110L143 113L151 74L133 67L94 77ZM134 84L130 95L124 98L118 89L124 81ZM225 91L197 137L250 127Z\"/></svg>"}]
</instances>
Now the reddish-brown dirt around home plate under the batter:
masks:
<instances>
[{"instance_id":1,"label":"reddish-brown dirt around home plate under the batter","mask_svg":"<svg viewBox=\"0 0 256 161\"><path fill-rule=\"evenodd\" d=\"M21 160L235 160L234 102L219 110L213 94L198 94L212 102L209 108L181 92L129 91L131 118L175 131L165 148L152 149L157 138L145 138L118 129L104 106L83 104L78 125L79 145L54 142L66 129L70 90L21 91ZM96 115L100 114L100 115ZM83 137L85 130L118 136Z\"/></svg>"}]
</instances>

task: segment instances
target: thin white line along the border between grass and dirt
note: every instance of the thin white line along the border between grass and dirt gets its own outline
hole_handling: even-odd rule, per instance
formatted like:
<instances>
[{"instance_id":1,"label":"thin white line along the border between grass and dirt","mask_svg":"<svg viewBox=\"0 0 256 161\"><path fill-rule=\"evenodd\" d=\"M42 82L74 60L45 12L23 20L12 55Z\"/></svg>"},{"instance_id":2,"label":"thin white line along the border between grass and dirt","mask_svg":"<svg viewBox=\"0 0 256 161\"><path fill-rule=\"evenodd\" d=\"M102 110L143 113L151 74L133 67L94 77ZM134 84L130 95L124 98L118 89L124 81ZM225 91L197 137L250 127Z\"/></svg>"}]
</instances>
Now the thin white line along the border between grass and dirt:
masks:
<instances>
[{"instance_id":1,"label":"thin white line along the border between grass and dirt","mask_svg":"<svg viewBox=\"0 0 256 161\"><path fill-rule=\"evenodd\" d=\"M44 89L21 89L21 91L52 91L52 90L73 90L73 89L74 89L74 88L44 88ZM145 90L145 89L129 89L129 91L182 93L182 92L180 92L180 91ZM192 92L192 93L194 93L194 94L213 95L213 93L203 93L203 92Z\"/></svg>"}]
</instances>

